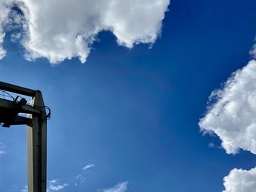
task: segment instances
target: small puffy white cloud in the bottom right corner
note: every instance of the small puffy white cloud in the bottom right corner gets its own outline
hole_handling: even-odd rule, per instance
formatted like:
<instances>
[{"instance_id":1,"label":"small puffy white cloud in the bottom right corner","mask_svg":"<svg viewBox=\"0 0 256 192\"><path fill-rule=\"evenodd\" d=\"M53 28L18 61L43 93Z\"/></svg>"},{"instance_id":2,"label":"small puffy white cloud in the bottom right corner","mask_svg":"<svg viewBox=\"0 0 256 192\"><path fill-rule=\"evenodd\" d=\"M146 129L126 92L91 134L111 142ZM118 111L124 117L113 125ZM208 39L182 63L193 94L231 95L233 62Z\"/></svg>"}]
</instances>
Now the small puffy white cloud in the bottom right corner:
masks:
<instances>
[{"instance_id":1,"label":"small puffy white cloud in the bottom right corner","mask_svg":"<svg viewBox=\"0 0 256 192\"><path fill-rule=\"evenodd\" d=\"M256 168L249 171L233 169L224 177L224 186L222 192L256 192Z\"/></svg>"}]
</instances>

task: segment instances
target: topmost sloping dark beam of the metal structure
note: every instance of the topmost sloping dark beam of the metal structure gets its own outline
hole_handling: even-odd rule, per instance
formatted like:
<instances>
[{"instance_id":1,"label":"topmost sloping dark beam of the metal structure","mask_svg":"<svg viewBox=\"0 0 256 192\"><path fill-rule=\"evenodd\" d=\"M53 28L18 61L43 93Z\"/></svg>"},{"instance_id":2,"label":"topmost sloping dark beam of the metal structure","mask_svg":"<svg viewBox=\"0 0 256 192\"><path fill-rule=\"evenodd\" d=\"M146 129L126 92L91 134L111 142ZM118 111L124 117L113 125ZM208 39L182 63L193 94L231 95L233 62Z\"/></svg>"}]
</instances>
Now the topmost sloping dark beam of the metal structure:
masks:
<instances>
[{"instance_id":1,"label":"topmost sloping dark beam of the metal structure","mask_svg":"<svg viewBox=\"0 0 256 192\"><path fill-rule=\"evenodd\" d=\"M23 88L17 85L12 85L7 82L1 82L0 81L0 89L4 91L10 91L12 93L18 93L24 96L34 96L36 91L30 89L30 88Z\"/></svg>"}]
</instances>

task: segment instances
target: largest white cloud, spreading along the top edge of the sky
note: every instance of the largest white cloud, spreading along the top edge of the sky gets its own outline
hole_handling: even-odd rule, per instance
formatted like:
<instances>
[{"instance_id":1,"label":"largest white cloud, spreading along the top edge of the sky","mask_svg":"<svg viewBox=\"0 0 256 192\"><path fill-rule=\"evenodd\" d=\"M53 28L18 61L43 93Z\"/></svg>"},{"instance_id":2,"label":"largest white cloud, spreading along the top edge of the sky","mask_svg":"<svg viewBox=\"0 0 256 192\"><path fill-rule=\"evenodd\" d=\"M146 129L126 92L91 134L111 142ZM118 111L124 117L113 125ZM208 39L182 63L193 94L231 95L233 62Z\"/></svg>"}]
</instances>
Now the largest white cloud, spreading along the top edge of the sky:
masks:
<instances>
[{"instance_id":1,"label":"largest white cloud, spreading along the top edge of the sky","mask_svg":"<svg viewBox=\"0 0 256 192\"><path fill-rule=\"evenodd\" d=\"M26 49L26 59L48 58L52 64L73 57L86 62L91 45L100 31L111 31L118 45L129 48L139 43L154 43L170 4L170 0L0 2L0 45L4 40L4 21L11 11L10 7L15 4L22 11L22 14L15 15L14 23L22 26L24 33L20 42ZM21 23L17 23L20 15ZM16 39L17 35L12 37ZM5 55L2 47L0 55L1 58Z\"/></svg>"}]
</instances>

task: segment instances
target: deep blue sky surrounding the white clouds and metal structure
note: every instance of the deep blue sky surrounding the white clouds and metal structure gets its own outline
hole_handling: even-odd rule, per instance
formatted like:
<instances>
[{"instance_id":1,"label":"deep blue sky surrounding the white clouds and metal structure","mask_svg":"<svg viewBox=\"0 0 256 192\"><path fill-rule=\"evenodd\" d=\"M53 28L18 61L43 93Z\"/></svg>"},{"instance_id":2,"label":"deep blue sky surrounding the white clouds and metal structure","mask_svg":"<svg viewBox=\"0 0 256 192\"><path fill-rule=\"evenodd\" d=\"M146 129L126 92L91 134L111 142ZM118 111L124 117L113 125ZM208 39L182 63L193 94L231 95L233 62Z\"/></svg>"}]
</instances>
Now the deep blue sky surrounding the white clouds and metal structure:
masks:
<instances>
[{"instance_id":1,"label":"deep blue sky surrounding the white clouds and metal structure","mask_svg":"<svg viewBox=\"0 0 256 192\"><path fill-rule=\"evenodd\" d=\"M85 64L27 61L7 30L1 81L41 90L52 110L48 184L63 192L216 192L230 170L255 167L255 155L227 154L198 126L211 92L252 59L255 7L252 0L171 1L152 47L127 48L102 31ZM26 128L1 128L0 142L0 191L22 191Z\"/></svg>"}]
</instances>

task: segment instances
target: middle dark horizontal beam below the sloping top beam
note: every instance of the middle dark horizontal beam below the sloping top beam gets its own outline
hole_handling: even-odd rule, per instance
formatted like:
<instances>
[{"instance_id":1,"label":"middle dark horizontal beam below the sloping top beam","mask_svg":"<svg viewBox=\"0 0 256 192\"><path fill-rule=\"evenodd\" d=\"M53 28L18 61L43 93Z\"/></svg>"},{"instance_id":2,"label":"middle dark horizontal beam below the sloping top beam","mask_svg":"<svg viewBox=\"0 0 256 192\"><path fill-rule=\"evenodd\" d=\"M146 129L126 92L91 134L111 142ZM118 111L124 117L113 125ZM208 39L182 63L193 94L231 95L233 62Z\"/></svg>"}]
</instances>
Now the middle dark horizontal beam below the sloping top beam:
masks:
<instances>
[{"instance_id":1,"label":"middle dark horizontal beam below the sloping top beam","mask_svg":"<svg viewBox=\"0 0 256 192\"><path fill-rule=\"evenodd\" d=\"M14 104L13 101L9 101L6 99L0 99L0 109L18 110L18 112L28 113L28 114L33 114L33 115L41 115L42 114L41 110L31 107L28 104L17 106Z\"/></svg>"}]
</instances>

